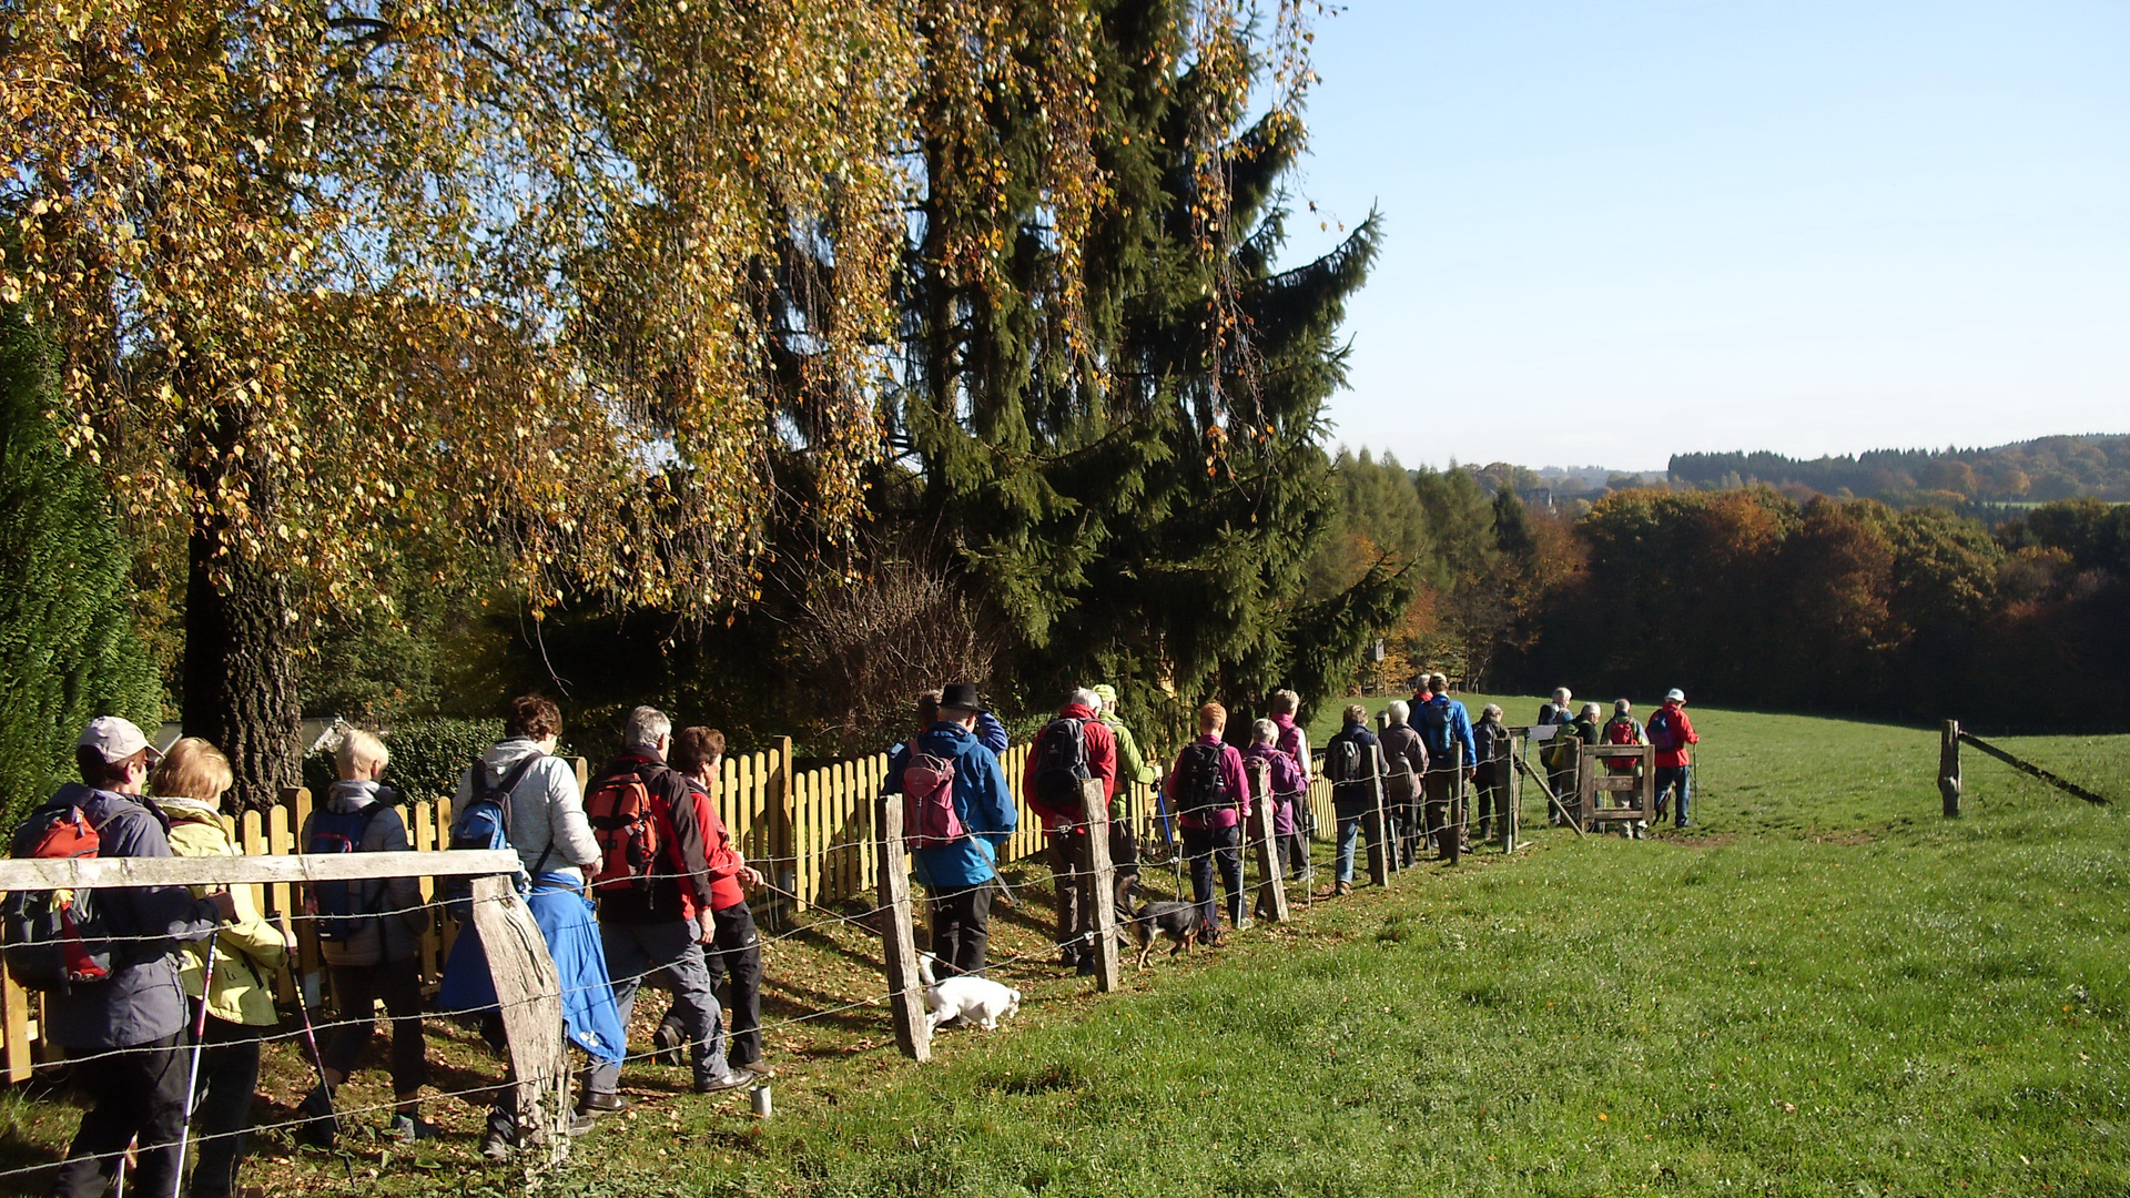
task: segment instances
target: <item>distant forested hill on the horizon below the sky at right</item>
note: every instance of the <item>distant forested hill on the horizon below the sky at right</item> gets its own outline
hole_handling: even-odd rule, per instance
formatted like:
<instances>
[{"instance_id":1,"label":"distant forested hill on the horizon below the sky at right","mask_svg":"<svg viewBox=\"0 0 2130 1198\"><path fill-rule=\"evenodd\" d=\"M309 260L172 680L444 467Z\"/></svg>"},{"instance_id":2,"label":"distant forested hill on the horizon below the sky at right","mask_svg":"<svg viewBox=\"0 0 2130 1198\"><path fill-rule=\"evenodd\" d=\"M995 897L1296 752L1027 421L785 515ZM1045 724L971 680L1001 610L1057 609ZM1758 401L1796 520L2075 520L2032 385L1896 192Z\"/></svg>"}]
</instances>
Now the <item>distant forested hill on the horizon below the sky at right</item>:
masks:
<instances>
[{"instance_id":1,"label":"distant forested hill on the horizon below the sky at right","mask_svg":"<svg viewBox=\"0 0 2130 1198\"><path fill-rule=\"evenodd\" d=\"M1781 454L1672 454L1674 482L1734 490L1764 482L1804 486L1836 499L1889 503L2130 501L2130 435L2038 437L1992 450L1870 450L1798 460Z\"/></svg>"}]
</instances>

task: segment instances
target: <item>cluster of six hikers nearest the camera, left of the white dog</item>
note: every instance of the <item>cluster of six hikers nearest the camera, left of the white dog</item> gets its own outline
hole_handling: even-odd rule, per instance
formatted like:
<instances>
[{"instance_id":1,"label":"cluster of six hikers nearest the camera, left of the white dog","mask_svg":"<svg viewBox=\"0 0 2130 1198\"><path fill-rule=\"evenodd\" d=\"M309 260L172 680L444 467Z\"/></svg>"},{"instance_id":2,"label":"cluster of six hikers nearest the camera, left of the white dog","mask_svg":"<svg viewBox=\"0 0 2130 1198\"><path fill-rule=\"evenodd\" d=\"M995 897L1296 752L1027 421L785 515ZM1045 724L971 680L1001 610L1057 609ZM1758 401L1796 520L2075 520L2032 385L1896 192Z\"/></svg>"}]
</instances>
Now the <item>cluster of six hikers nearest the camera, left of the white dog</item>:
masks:
<instances>
[{"instance_id":1,"label":"cluster of six hikers nearest the camera, left of the white dog","mask_svg":"<svg viewBox=\"0 0 2130 1198\"><path fill-rule=\"evenodd\" d=\"M626 1027L643 983L673 993L654 1059L688 1059L697 1091L773 1076L760 1042L760 938L746 889L763 885L718 816L724 735L677 729L656 708L630 712L622 752L577 787L556 757L560 710L513 699L505 735L458 782L452 848L513 851L520 889L562 991L564 1036L588 1055L569 1126L628 1108L618 1091ZM15 833L15 857L234 857L222 823L232 770L213 744L183 738L155 752L132 723L98 716L77 750L79 782L60 787ZM339 780L305 821L305 853L405 853L407 823L383 782L390 752L351 729ZM445 889L452 895L452 889ZM596 902L594 902L596 900ZM464 895L437 1008L469 1017L501 1051L503 1019ZM362 1068L375 1004L392 1030L392 1121L398 1140L437 1136L422 1119L428 1083L417 968L435 904L415 878L313 883L302 919L317 932L339 1021L309 1036L317 1085L298 1104L300 1138L341 1134L334 1091ZM45 1036L75 1062L89 1106L53 1194L94 1198L113 1177L130 1192L222 1198L236 1192L260 1074L260 1045L281 1023L273 989L292 951L290 923L268 923L247 887L115 887L9 895L6 966L45 993ZM716 987L728 987L720 1004ZM731 1008L731 1030L724 1010ZM494 1091L481 1153L520 1138L509 1079ZM185 1177L185 1143L198 1157ZM124 1164L132 1157L132 1175Z\"/></svg>"}]
</instances>

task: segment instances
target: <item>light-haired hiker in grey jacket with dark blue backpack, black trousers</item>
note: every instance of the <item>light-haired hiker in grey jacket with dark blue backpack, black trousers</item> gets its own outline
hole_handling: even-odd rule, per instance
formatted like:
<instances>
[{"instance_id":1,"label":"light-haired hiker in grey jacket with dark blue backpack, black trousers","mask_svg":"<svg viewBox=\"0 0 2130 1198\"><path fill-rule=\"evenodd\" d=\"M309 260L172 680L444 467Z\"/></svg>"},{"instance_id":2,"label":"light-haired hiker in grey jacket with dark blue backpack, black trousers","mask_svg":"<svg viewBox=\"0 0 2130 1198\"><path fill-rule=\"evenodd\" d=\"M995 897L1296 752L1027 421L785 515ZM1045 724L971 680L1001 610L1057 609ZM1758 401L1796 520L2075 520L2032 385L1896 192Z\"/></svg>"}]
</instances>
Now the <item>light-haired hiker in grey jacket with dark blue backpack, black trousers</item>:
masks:
<instances>
[{"instance_id":1,"label":"light-haired hiker in grey jacket with dark blue backpack, black trousers","mask_svg":"<svg viewBox=\"0 0 2130 1198\"><path fill-rule=\"evenodd\" d=\"M298 842L305 853L411 853L398 795L381 782L392 755L362 729L349 729L334 750L339 780L326 802L305 821ZM317 883L307 887L305 906L315 914L317 951L332 976L339 1023L320 1045L324 1076L302 1104L302 1136L332 1147L339 1119L332 1091L362 1068L371 1055L371 1025L377 1000L392 1019L392 1134L405 1143L437 1136L422 1119L422 1087L428 1083L428 1040L422 1032L422 934L430 912L422 906L417 878L373 878L366 883Z\"/></svg>"}]
</instances>

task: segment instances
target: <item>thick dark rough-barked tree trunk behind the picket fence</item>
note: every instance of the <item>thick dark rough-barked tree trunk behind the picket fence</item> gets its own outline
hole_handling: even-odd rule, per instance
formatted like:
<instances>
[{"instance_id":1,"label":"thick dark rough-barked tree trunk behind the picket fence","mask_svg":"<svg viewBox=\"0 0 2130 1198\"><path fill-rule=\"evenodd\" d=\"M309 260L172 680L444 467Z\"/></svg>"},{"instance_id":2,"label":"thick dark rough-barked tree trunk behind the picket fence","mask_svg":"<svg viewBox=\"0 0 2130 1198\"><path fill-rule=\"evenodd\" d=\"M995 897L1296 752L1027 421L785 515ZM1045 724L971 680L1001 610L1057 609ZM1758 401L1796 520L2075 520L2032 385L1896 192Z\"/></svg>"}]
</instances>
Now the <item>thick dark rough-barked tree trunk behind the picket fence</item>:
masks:
<instances>
[{"instance_id":1,"label":"thick dark rough-barked tree trunk behind the picket fence","mask_svg":"<svg viewBox=\"0 0 2130 1198\"><path fill-rule=\"evenodd\" d=\"M302 774L288 584L253 563L217 563L217 548L215 533L196 524L185 580L185 735L230 757L232 810L268 808Z\"/></svg>"}]
</instances>

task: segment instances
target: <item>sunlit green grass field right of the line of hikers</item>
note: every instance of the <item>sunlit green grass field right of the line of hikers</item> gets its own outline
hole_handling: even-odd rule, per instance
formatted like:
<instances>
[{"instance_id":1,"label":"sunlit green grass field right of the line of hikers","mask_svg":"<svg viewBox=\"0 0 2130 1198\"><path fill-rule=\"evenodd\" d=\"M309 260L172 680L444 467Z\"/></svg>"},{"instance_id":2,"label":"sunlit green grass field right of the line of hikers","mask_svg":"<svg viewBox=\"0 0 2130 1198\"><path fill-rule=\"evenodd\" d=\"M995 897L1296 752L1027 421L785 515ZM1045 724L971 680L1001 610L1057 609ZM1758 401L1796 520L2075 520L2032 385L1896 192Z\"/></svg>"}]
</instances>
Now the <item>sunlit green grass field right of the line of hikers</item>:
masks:
<instances>
[{"instance_id":1,"label":"sunlit green grass field right of the line of hikers","mask_svg":"<svg viewBox=\"0 0 2130 1198\"><path fill-rule=\"evenodd\" d=\"M2130 1194L2130 812L1970 752L1968 814L1943 821L1936 733L1695 723L1691 833L1534 829L1120 995L1020 961L1020 1019L941 1034L931 1066L858 1010L784 1040L773 1119L660 1083L541 1192ZM2006 746L2130 799L2130 738ZM1007 953L1042 942L1035 874ZM878 961L826 929L805 951L843 961L822 993ZM11 1138L49 1123L26 1106ZM520 1187L464 1140L283 1155L253 1183Z\"/></svg>"}]
</instances>

